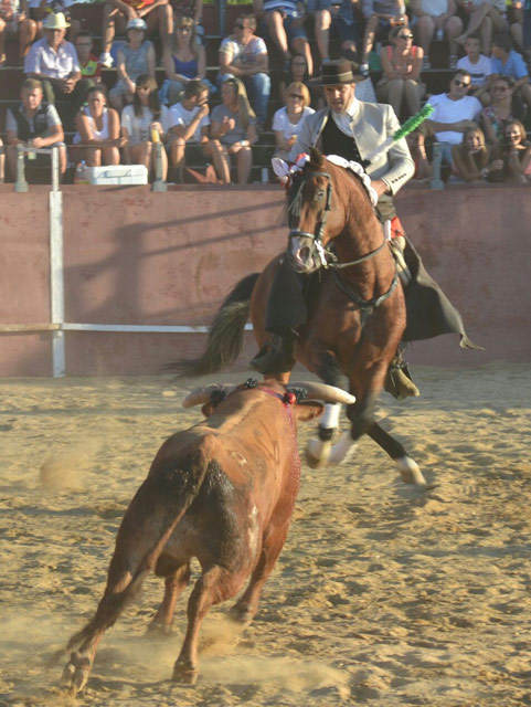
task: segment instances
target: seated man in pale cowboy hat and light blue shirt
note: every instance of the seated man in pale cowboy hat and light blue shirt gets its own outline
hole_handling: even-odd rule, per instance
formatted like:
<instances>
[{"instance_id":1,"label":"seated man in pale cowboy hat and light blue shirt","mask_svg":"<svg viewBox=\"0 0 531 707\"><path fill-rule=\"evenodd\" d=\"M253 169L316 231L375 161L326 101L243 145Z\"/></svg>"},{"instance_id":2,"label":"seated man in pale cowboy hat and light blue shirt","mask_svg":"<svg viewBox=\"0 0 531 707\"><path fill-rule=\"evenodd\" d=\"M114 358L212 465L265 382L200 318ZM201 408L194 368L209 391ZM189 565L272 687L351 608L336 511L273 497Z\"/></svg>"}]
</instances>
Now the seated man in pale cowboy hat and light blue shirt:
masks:
<instances>
[{"instance_id":1,"label":"seated man in pale cowboy hat and light blue shirt","mask_svg":"<svg viewBox=\"0 0 531 707\"><path fill-rule=\"evenodd\" d=\"M59 113L67 125L85 103L94 82L82 78L75 46L64 39L70 24L63 12L50 13L42 27L44 38L32 44L24 61L24 74L42 83L49 104L55 101L66 104L66 109L59 106Z\"/></svg>"}]
</instances>

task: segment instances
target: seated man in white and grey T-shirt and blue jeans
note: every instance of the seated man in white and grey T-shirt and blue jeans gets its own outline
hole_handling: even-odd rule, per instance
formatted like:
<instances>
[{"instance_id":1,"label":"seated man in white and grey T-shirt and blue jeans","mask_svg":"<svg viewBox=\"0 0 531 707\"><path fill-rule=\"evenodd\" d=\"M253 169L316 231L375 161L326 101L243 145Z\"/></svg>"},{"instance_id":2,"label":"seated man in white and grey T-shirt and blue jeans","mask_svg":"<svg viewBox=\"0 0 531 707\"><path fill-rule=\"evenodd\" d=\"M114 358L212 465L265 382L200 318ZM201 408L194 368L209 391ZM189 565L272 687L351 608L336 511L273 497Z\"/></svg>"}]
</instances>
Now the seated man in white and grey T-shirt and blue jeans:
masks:
<instances>
[{"instance_id":1,"label":"seated man in white and grey T-shirt and blue jeans","mask_svg":"<svg viewBox=\"0 0 531 707\"><path fill-rule=\"evenodd\" d=\"M267 46L255 36L256 17L242 14L234 24L234 32L220 45L220 85L231 74L240 78L251 97L258 127L264 127L270 94Z\"/></svg>"}]
</instances>

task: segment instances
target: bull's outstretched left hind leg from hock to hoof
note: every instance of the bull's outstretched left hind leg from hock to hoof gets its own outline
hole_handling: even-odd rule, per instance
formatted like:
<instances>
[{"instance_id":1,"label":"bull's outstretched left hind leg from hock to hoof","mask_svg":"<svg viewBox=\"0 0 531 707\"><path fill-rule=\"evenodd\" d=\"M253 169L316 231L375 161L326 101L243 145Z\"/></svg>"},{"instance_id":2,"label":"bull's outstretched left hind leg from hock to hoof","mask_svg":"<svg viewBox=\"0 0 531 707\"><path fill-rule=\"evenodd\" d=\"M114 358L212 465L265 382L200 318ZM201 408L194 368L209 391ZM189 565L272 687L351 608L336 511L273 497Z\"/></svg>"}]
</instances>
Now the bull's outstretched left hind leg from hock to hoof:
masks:
<instances>
[{"instance_id":1,"label":"bull's outstretched left hind leg from hock to hoof","mask_svg":"<svg viewBox=\"0 0 531 707\"><path fill-rule=\"evenodd\" d=\"M63 669L62 684L71 695L76 695L85 687L99 641L105 631L117 621L126 602L130 601L139 591L141 582L148 573L148 571L140 571L132 578L130 572L126 570L119 572L116 581L111 581L114 569L111 562L107 589L94 619L68 642L68 648L81 643L78 650L71 653L70 661Z\"/></svg>"}]
</instances>

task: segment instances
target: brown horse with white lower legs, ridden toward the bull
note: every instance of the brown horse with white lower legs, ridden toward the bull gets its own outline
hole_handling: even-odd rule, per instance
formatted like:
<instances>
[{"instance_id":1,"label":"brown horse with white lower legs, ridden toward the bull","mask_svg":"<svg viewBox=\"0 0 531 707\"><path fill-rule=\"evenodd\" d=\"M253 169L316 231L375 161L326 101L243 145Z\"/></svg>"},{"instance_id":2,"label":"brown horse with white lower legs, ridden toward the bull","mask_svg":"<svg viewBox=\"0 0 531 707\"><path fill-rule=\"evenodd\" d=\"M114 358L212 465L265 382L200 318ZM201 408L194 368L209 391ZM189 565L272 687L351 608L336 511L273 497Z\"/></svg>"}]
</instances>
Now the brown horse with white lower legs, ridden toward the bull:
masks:
<instances>
[{"instance_id":1,"label":"brown horse with white lower legs, ridden toward the bull","mask_svg":"<svg viewBox=\"0 0 531 707\"><path fill-rule=\"evenodd\" d=\"M311 441L307 450L310 464L344 461L367 433L396 462L405 482L425 484L404 447L374 420L406 315L396 263L361 179L312 148L310 160L290 177L288 226L284 256L234 287L212 324L203 356L177 363L173 370L200 376L226 368L242 349L249 314L258 346L263 346L269 337L265 318L273 281L279 267L290 265L309 275L307 320L298 327L294 356L328 384L338 386L344 373L357 399L347 408L350 431L333 446L340 409L327 405L319 440ZM290 303L285 304L289 307ZM270 378L286 384L289 376Z\"/></svg>"}]
</instances>

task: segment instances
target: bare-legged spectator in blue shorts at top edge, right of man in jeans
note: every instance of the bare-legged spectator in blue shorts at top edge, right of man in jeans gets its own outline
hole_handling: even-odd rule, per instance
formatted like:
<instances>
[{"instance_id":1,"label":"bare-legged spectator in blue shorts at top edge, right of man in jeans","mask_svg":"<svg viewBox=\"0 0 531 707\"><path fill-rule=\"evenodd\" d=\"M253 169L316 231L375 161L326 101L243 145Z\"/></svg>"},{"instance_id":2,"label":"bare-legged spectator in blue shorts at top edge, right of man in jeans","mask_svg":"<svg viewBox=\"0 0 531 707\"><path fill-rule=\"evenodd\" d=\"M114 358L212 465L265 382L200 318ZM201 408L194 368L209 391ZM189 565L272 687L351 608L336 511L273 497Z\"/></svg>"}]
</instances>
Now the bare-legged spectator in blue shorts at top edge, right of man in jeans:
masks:
<instances>
[{"instance_id":1,"label":"bare-legged spectator in blue shorts at top edge, right of man in jeans","mask_svg":"<svg viewBox=\"0 0 531 707\"><path fill-rule=\"evenodd\" d=\"M264 15L266 31L282 56L284 68L289 67L289 48L296 54L304 54L308 75L314 73L314 59L304 28L305 3L300 0L253 0L253 12Z\"/></svg>"}]
</instances>

